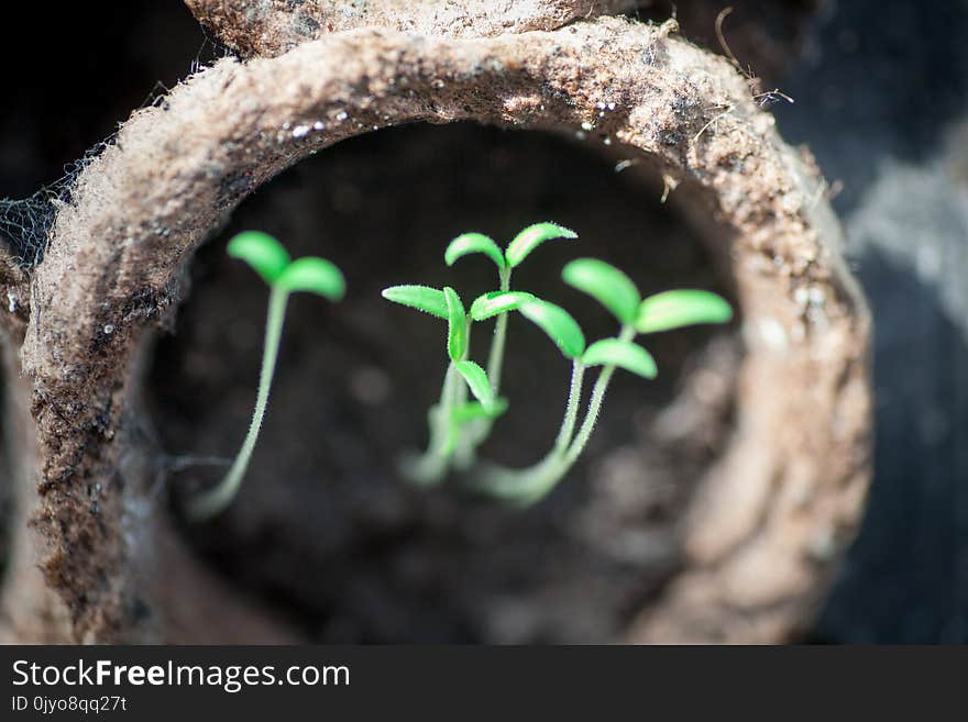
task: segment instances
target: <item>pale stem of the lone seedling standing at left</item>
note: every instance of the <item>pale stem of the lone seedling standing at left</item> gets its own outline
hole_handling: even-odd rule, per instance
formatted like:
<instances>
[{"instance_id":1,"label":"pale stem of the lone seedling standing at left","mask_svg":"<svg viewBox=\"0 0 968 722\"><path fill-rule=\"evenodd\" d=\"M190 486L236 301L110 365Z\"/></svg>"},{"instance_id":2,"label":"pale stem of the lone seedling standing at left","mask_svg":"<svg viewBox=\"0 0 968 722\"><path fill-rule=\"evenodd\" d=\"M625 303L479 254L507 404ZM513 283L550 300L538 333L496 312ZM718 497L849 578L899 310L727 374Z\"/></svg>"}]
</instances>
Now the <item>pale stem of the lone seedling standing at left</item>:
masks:
<instances>
[{"instance_id":1,"label":"pale stem of the lone seedling standing at left","mask_svg":"<svg viewBox=\"0 0 968 722\"><path fill-rule=\"evenodd\" d=\"M196 521L210 519L223 511L239 491L239 486L242 484L242 478L249 468L249 459L252 457L252 451L255 448L258 430L265 415L265 407L268 403L268 392L272 388L276 357L279 353L279 338L283 335L283 321L286 316L286 302L288 300L288 291L278 288L272 289L268 297L268 315L265 323L265 346L262 352L258 392L255 398L255 411L252 414L252 422L249 424L249 433L245 434L242 448L222 480L216 487L202 492L190 502L188 513Z\"/></svg>"}]
</instances>

